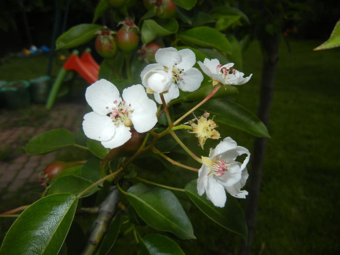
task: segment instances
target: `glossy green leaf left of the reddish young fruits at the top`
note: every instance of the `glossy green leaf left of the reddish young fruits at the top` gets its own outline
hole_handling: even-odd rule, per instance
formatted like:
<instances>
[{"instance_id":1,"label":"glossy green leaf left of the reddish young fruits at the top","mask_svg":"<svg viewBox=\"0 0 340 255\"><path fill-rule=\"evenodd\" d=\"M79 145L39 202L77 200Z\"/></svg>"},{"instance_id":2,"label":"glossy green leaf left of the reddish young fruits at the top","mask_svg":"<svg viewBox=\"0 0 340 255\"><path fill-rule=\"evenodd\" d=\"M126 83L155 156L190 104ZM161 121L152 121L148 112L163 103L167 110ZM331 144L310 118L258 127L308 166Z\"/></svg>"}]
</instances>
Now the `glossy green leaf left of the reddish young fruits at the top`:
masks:
<instances>
[{"instance_id":1,"label":"glossy green leaf left of the reddish young fruits at the top","mask_svg":"<svg viewBox=\"0 0 340 255\"><path fill-rule=\"evenodd\" d=\"M92 40L102 26L96 24L80 24L70 28L56 40L56 50L70 49Z\"/></svg>"}]
</instances>

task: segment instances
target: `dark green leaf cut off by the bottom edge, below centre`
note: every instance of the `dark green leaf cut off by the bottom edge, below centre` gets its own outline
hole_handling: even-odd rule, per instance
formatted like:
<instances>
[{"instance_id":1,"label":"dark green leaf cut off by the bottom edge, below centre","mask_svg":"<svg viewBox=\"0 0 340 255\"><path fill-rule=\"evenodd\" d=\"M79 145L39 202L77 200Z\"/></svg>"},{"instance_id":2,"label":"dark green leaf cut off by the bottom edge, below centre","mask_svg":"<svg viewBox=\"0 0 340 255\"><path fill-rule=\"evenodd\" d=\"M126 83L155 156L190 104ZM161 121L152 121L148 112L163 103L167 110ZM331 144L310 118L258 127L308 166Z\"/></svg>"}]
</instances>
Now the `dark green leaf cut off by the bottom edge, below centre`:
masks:
<instances>
[{"instance_id":1,"label":"dark green leaf cut off by the bottom edge, below centre","mask_svg":"<svg viewBox=\"0 0 340 255\"><path fill-rule=\"evenodd\" d=\"M138 243L138 255L184 255L181 247L172 239L149 234Z\"/></svg>"}]
</instances>

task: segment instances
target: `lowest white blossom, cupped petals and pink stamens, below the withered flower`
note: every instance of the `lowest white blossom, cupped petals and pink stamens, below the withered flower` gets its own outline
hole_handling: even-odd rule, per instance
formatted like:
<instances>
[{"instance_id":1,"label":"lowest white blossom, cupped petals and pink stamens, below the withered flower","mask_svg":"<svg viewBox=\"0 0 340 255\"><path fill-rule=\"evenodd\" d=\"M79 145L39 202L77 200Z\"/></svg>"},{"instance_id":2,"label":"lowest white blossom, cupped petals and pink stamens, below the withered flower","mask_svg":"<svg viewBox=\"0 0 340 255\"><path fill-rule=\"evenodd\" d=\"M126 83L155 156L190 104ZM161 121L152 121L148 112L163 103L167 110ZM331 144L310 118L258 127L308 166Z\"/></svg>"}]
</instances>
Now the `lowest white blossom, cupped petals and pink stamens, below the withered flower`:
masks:
<instances>
[{"instance_id":1,"label":"lowest white blossom, cupped petals and pink stamens, below the withered flower","mask_svg":"<svg viewBox=\"0 0 340 255\"><path fill-rule=\"evenodd\" d=\"M242 163L235 159L246 154ZM208 200L215 206L224 207L227 200L225 190L237 198L245 198L246 190L241 190L248 178L246 165L249 151L238 146L231 138L226 137L215 149L210 150L209 157L202 157L203 165L198 171L197 190L202 196L206 192Z\"/></svg>"}]
</instances>

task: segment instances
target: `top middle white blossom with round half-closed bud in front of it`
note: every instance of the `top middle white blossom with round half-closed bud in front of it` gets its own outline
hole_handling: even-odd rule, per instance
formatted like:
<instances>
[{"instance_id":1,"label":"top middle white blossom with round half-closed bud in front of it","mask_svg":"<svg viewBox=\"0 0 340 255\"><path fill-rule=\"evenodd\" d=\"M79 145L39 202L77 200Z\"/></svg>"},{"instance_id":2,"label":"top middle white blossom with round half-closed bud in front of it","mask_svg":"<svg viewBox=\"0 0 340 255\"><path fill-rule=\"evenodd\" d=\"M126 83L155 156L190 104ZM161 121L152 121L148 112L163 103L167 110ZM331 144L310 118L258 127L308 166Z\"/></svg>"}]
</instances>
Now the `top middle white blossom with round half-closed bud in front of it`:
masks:
<instances>
[{"instance_id":1,"label":"top middle white blossom with round half-closed bud in front of it","mask_svg":"<svg viewBox=\"0 0 340 255\"><path fill-rule=\"evenodd\" d=\"M179 96L179 88L191 92L200 87L203 75L197 68L193 68L196 63L193 51L163 48L156 52L155 60L157 63L146 66L140 77L147 92L154 93L158 103L162 103L159 93L164 93L168 103Z\"/></svg>"}]
</instances>

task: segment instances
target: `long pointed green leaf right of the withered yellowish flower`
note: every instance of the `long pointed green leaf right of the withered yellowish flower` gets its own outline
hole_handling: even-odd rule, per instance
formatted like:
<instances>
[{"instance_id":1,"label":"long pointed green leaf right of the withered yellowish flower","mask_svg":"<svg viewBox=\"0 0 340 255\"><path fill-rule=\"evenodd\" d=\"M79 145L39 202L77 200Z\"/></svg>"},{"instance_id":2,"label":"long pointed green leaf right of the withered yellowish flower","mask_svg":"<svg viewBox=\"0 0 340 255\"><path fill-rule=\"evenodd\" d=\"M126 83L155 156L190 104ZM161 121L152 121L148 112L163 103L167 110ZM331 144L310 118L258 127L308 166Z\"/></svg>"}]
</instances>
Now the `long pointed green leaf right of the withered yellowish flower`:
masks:
<instances>
[{"instance_id":1,"label":"long pointed green leaf right of the withered yellowish flower","mask_svg":"<svg viewBox=\"0 0 340 255\"><path fill-rule=\"evenodd\" d=\"M216 115L214 120L217 123L238 128L253 136L271 137L263 122L236 102L226 99L209 100L198 109L201 112L204 110Z\"/></svg>"}]
</instances>

